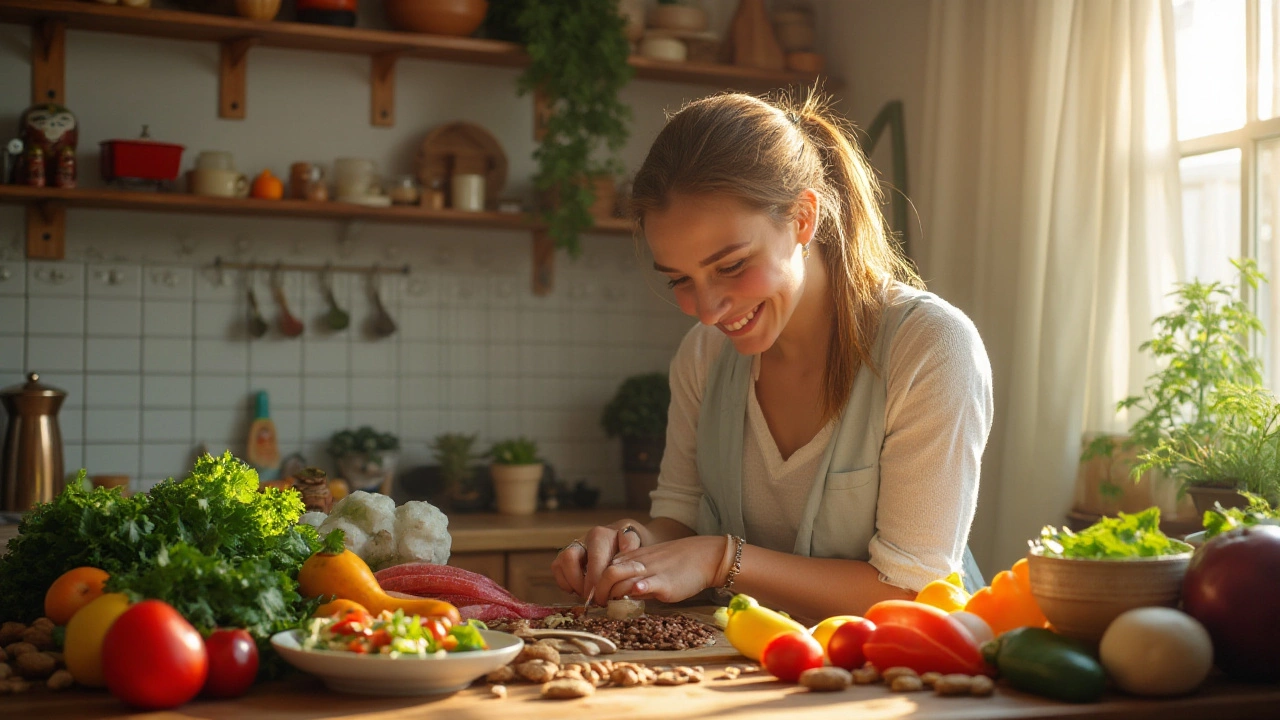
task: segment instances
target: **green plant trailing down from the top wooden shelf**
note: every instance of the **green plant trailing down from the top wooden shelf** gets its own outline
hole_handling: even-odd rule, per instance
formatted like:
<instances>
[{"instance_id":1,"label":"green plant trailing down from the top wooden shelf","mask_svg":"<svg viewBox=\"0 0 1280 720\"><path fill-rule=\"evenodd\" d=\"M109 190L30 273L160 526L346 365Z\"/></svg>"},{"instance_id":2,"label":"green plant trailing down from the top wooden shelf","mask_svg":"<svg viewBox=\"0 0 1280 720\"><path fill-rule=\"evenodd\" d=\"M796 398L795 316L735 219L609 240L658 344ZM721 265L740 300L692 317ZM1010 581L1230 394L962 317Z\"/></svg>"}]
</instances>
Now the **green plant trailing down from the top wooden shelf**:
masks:
<instances>
[{"instance_id":1,"label":"green plant trailing down from the top wooden shelf","mask_svg":"<svg viewBox=\"0 0 1280 720\"><path fill-rule=\"evenodd\" d=\"M588 177L621 174L631 110L618 92L631 79L631 46L616 0L493 0L489 35L524 42L529 68L521 95L539 92L550 113L534 151L534 187L547 199L543 220L557 247L581 252L594 192ZM604 155L604 158L602 158Z\"/></svg>"}]
</instances>

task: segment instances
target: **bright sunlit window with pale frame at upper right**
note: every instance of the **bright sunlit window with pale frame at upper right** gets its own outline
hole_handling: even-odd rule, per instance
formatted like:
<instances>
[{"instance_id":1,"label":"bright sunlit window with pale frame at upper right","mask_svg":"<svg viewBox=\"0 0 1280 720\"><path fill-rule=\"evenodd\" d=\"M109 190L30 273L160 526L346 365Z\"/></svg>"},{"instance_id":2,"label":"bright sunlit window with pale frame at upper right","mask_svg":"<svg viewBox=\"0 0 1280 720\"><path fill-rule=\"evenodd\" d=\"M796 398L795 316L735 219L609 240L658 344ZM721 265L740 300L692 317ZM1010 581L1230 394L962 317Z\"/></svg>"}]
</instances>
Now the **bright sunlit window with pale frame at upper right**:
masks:
<instances>
[{"instance_id":1,"label":"bright sunlit window with pale frame at upper right","mask_svg":"<svg viewBox=\"0 0 1280 720\"><path fill-rule=\"evenodd\" d=\"M1257 350L1280 388L1280 0L1174 0L1183 261L1229 281L1229 258L1271 279Z\"/></svg>"}]
</instances>

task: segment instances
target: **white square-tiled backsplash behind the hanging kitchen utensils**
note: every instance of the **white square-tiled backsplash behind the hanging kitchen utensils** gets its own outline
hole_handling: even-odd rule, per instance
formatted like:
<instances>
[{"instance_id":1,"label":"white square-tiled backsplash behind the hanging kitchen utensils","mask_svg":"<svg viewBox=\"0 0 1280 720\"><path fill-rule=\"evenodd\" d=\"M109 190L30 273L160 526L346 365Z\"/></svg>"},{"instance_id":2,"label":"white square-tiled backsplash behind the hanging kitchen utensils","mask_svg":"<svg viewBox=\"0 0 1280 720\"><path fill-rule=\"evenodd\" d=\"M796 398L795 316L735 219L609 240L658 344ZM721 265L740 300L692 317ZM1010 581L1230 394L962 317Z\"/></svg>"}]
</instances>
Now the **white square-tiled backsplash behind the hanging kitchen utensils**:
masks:
<instances>
[{"instance_id":1,"label":"white square-tiled backsplash behind the hanging kitchen utensils","mask_svg":"<svg viewBox=\"0 0 1280 720\"><path fill-rule=\"evenodd\" d=\"M264 243L252 252L270 261ZM648 288L613 260L570 264L552 297L534 297L526 258L483 270L477 258L493 255L495 242L410 247L416 268L433 269L384 278L399 328L388 338L367 334L361 274L333 277L352 316L333 333L321 327L319 274L284 273L292 310L307 325L284 338L269 273L260 272L255 287L271 331L252 340L238 270L219 283L210 264L115 252L120 261L0 263L10 268L0 281L0 380L37 370L67 384L68 466L131 474L140 487L184 474L200 443L243 454L259 389L270 396L282 454L321 465L330 434L371 424L401 436L408 464L433 461L429 442L443 432L477 433L480 448L527 436L562 478L617 482L617 443L599 430L600 407L630 372L664 370L691 320L669 305L641 310Z\"/></svg>"}]
</instances>

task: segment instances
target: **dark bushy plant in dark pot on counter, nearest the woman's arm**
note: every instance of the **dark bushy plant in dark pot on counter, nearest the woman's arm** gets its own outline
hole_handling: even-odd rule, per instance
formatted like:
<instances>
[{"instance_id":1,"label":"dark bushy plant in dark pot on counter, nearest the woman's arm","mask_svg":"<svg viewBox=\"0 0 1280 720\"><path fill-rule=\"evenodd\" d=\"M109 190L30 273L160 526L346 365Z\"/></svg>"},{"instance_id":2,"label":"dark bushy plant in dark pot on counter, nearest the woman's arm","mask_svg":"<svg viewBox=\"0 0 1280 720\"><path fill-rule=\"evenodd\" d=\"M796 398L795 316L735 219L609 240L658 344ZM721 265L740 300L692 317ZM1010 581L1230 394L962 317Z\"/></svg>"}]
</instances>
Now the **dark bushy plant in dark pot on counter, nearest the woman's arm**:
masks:
<instances>
[{"instance_id":1,"label":"dark bushy plant in dark pot on counter, nearest the woman's arm","mask_svg":"<svg viewBox=\"0 0 1280 720\"><path fill-rule=\"evenodd\" d=\"M631 510L648 510L649 493L658 487L669 406L667 374L646 373L625 379L600 415L604 433L622 438L622 474Z\"/></svg>"}]
</instances>

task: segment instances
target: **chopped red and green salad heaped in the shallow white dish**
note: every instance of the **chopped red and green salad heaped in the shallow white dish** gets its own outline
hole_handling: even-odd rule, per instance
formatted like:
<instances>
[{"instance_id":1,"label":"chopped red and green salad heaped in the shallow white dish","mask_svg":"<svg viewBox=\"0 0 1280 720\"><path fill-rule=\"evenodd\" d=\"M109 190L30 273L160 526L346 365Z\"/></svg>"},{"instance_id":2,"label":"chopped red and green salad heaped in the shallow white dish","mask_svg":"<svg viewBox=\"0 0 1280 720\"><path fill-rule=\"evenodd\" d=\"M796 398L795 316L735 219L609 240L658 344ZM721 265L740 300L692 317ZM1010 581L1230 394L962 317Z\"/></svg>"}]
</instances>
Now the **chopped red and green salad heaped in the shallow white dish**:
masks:
<instances>
[{"instance_id":1,"label":"chopped red and green salad heaped in the shallow white dish","mask_svg":"<svg viewBox=\"0 0 1280 720\"><path fill-rule=\"evenodd\" d=\"M312 619L302 647L390 657L443 657L449 652L489 650L480 630L484 623L468 620L454 625L447 618L383 611L376 618L352 610L335 618Z\"/></svg>"}]
</instances>

